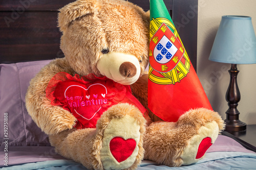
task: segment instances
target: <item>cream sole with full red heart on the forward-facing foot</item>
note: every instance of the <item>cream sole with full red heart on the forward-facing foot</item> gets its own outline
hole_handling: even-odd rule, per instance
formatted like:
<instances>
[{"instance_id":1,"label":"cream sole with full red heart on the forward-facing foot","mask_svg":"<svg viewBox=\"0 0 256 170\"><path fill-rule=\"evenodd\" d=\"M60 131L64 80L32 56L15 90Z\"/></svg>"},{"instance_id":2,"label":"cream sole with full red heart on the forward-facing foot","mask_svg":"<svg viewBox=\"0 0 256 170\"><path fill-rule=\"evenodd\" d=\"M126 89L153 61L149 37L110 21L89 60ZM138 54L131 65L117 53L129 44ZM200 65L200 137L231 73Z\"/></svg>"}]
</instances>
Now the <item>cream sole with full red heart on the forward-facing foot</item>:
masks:
<instances>
[{"instance_id":1,"label":"cream sole with full red heart on the forward-facing foot","mask_svg":"<svg viewBox=\"0 0 256 170\"><path fill-rule=\"evenodd\" d=\"M130 115L113 118L104 130L101 162L104 169L132 166L139 153L140 125Z\"/></svg>"}]
</instances>

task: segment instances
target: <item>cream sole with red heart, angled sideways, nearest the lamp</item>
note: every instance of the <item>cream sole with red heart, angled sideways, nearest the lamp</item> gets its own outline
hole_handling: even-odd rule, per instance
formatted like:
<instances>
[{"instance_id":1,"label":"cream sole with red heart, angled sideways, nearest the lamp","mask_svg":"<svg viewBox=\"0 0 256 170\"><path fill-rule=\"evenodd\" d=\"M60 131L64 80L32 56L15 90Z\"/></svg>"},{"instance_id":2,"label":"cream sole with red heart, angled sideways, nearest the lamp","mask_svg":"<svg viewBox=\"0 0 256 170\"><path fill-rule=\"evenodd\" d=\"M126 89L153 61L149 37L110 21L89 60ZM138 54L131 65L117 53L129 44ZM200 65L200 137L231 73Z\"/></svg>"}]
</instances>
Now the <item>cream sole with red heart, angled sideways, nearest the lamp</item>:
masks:
<instances>
[{"instance_id":1,"label":"cream sole with red heart, angled sideways, nearest the lamp","mask_svg":"<svg viewBox=\"0 0 256 170\"><path fill-rule=\"evenodd\" d=\"M219 134L216 121L208 122L198 130L198 134L188 140L188 145L183 150L182 165L195 163L203 158L208 148L215 142Z\"/></svg>"}]
</instances>

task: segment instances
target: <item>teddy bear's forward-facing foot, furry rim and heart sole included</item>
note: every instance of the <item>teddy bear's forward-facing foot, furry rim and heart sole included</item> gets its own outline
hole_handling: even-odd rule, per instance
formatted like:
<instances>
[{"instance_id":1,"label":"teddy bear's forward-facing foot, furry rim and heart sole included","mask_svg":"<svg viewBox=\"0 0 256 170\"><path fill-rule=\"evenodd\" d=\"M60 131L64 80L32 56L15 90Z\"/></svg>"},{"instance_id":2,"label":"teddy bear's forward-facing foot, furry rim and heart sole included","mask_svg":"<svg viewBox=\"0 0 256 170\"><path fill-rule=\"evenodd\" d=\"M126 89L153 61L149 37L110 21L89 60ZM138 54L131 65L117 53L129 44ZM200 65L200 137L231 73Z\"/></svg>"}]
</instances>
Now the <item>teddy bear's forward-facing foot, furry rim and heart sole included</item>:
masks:
<instances>
[{"instance_id":1,"label":"teddy bear's forward-facing foot, furry rim and heart sole included","mask_svg":"<svg viewBox=\"0 0 256 170\"><path fill-rule=\"evenodd\" d=\"M108 109L97 123L102 133L100 161L104 169L135 169L143 158L142 139L145 119L129 104Z\"/></svg>"}]
</instances>

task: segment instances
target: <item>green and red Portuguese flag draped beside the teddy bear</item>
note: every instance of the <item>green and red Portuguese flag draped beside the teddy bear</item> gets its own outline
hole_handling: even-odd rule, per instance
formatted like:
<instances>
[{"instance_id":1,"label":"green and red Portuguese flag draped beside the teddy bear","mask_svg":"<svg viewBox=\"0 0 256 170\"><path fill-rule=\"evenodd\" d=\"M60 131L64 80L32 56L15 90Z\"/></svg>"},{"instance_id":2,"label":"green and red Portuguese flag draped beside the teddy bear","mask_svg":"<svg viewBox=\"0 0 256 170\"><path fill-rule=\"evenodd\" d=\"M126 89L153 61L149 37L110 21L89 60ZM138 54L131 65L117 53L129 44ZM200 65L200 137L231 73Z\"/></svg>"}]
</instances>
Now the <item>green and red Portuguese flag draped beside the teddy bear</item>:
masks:
<instances>
[{"instance_id":1,"label":"green and red Portuguese flag draped beside the teddy bear","mask_svg":"<svg viewBox=\"0 0 256 170\"><path fill-rule=\"evenodd\" d=\"M148 108L167 122L190 109L212 110L162 0L150 1Z\"/></svg>"}]
</instances>

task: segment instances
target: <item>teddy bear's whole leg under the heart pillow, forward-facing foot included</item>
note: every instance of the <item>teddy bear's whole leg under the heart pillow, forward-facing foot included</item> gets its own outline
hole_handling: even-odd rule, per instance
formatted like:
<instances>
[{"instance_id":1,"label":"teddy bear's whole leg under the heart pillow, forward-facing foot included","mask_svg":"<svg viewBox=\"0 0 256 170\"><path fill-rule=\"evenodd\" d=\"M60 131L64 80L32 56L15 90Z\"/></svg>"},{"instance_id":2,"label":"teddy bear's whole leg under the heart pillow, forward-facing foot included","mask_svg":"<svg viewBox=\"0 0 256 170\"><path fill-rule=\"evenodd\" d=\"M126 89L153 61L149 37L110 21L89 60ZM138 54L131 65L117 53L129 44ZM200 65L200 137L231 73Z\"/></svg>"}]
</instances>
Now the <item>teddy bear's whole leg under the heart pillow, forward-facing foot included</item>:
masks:
<instances>
[{"instance_id":1,"label":"teddy bear's whole leg under the heart pillow, forward-facing foot included","mask_svg":"<svg viewBox=\"0 0 256 170\"><path fill-rule=\"evenodd\" d=\"M105 111L96 129L49 135L60 155L89 169L135 169L143 159L145 118L135 106L117 104Z\"/></svg>"}]
</instances>

